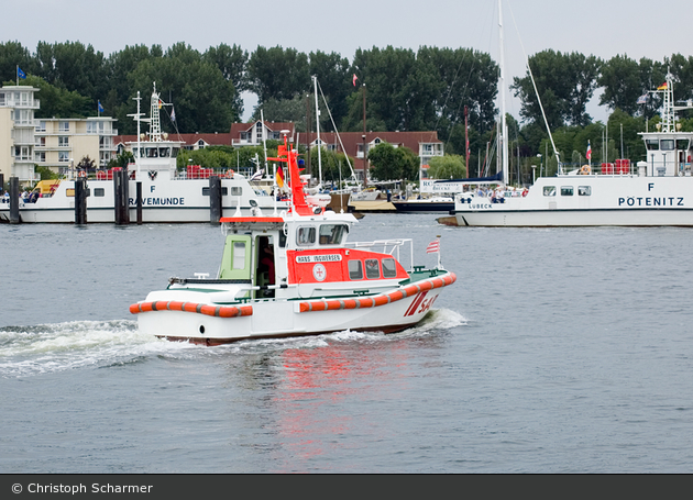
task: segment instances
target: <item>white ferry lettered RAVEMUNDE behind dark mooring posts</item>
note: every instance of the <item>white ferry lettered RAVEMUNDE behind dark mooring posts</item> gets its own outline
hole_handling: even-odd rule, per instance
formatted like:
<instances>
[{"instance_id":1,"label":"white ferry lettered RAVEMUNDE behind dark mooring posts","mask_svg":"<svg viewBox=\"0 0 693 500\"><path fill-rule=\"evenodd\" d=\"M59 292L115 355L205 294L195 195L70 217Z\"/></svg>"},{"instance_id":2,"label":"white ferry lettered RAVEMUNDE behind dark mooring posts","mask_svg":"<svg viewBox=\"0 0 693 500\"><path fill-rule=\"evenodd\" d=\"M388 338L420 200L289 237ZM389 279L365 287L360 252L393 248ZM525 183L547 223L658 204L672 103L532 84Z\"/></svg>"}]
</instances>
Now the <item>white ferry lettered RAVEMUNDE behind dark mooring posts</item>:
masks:
<instances>
[{"instance_id":1,"label":"white ferry lettered RAVEMUNDE behind dark mooring posts","mask_svg":"<svg viewBox=\"0 0 693 500\"><path fill-rule=\"evenodd\" d=\"M253 210L251 201L260 209L287 208L286 201L276 201L275 192L263 189L260 179L245 177L233 170L212 171L208 168L189 165L185 171L178 173L176 158L183 142L173 141L161 130L160 102L156 86L151 97L150 118L141 120L140 98L138 113L136 142L128 143L133 152L135 162L128 165L128 204L130 220L136 220L138 204L141 205L142 222L210 222L210 178L217 176L221 182L221 215L224 213L250 214ZM140 133L140 122L150 124L146 135ZM97 170L96 175L87 178L87 221L116 222L116 173L112 170ZM258 171L260 173L260 171ZM74 223L75 215L75 181L87 177L87 173L73 170L66 179L52 186L46 196L35 195L19 202L20 222L58 222ZM271 178L265 176L264 181ZM138 197L138 185L141 195ZM9 199L0 203L0 222L10 221Z\"/></svg>"}]
</instances>

